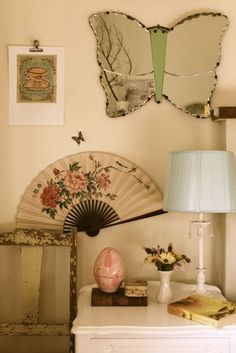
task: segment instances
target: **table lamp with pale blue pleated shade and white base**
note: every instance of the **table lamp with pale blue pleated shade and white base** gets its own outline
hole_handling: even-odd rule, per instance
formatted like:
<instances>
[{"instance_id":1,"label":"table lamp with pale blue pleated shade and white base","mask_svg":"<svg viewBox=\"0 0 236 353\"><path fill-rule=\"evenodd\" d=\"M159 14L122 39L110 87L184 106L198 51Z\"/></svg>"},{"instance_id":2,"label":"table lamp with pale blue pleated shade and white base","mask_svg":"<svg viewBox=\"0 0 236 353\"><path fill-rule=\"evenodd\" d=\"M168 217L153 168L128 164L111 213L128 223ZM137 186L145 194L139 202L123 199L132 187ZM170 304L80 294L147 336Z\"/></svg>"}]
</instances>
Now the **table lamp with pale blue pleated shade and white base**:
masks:
<instances>
[{"instance_id":1,"label":"table lamp with pale blue pleated shade and white base","mask_svg":"<svg viewBox=\"0 0 236 353\"><path fill-rule=\"evenodd\" d=\"M167 165L164 207L168 212L196 212L199 239L199 263L195 293L208 295L205 285L204 230L211 222L203 220L204 213L236 211L236 164L229 151L170 152Z\"/></svg>"}]
</instances>

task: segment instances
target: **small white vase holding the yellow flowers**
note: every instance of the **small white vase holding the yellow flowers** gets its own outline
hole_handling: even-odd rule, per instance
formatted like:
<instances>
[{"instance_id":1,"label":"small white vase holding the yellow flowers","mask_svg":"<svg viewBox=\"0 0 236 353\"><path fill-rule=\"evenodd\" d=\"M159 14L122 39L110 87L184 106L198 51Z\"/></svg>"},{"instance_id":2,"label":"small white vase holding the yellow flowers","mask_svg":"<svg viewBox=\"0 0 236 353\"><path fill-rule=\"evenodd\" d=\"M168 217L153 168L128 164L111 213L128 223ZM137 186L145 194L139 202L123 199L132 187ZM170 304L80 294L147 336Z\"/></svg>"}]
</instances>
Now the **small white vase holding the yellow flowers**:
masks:
<instances>
[{"instance_id":1,"label":"small white vase holding the yellow flowers","mask_svg":"<svg viewBox=\"0 0 236 353\"><path fill-rule=\"evenodd\" d=\"M158 271L160 274L160 286L157 292L158 303L168 304L173 298L171 289L171 275L173 271Z\"/></svg>"}]
</instances>

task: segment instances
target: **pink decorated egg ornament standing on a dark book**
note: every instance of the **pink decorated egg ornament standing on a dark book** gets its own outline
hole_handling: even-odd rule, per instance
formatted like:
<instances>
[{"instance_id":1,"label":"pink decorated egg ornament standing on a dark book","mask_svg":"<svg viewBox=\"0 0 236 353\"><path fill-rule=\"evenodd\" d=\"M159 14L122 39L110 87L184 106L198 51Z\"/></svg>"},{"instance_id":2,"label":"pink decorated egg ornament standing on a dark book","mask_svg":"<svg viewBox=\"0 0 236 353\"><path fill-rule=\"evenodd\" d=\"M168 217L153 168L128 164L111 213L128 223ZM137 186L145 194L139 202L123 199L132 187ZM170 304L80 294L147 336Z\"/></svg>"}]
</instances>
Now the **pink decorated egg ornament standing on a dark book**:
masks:
<instances>
[{"instance_id":1,"label":"pink decorated egg ornament standing on a dark book","mask_svg":"<svg viewBox=\"0 0 236 353\"><path fill-rule=\"evenodd\" d=\"M94 264L94 277L98 287L106 293L116 292L125 274L124 261L120 253L111 247L103 249Z\"/></svg>"}]
</instances>

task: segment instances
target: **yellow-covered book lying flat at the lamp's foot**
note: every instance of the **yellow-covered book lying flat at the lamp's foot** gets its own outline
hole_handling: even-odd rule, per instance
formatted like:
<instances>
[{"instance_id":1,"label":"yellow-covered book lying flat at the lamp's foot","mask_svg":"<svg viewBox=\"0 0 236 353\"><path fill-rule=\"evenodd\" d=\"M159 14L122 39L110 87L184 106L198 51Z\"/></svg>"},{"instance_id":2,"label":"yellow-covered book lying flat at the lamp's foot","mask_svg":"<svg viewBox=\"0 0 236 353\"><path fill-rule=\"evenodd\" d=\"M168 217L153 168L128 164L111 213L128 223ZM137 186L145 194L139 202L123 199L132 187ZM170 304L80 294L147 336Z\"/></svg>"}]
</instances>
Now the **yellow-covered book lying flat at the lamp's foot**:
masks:
<instances>
[{"instance_id":1,"label":"yellow-covered book lying flat at the lamp's foot","mask_svg":"<svg viewBox=\"0 0 236 353\"><path fill-rule=\"evenodd\" d=\"M236 325L236 303L219 297L191 295L170 303L168 312L200 324L223 327Z\"/></svg>"}]
</instances>

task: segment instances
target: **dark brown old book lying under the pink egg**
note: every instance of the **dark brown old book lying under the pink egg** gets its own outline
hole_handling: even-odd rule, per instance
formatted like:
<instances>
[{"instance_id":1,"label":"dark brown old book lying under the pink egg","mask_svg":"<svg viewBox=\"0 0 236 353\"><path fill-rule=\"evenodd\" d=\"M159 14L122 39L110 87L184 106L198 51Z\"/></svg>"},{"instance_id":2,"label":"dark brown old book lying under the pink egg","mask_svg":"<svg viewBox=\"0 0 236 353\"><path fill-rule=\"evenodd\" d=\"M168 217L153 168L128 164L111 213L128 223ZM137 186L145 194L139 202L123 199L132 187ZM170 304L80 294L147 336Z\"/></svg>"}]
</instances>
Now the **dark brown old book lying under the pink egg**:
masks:
<instances>
[{"instance_id":1,"label":"dark brown old book lying under the pink egg","mask_svg":"<svg viewBox=\"0 0 236 353\"><path fill-rule=\"evenodd\" d=\"M115 293L105 293L99 288L92 288L92 306L147 306L147 297L127 297L124 288L119 288Z\"/></svg>"}]
</instances>

